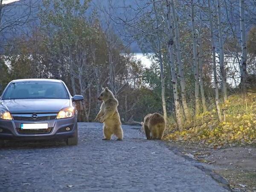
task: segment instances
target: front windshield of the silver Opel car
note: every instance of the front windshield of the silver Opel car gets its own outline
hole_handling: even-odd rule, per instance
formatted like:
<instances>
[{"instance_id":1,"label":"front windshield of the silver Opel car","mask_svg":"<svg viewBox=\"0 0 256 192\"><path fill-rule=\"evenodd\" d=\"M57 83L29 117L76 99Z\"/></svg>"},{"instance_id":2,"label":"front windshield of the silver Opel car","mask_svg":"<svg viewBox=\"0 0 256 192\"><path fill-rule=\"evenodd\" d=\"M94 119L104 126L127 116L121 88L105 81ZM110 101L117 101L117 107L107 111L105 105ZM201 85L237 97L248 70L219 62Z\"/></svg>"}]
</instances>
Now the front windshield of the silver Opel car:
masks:
<instances>
[{"instance_id":1,"label":"front windshield of the silver Opel car","mask_svg":"<svg viewBox=\"0 0 256 192\"><path fill-rule=\"evenodd\" d=\"M69 99L61 82L26 81L9 84L3 99Z\"/></svg>"}]
</instances>

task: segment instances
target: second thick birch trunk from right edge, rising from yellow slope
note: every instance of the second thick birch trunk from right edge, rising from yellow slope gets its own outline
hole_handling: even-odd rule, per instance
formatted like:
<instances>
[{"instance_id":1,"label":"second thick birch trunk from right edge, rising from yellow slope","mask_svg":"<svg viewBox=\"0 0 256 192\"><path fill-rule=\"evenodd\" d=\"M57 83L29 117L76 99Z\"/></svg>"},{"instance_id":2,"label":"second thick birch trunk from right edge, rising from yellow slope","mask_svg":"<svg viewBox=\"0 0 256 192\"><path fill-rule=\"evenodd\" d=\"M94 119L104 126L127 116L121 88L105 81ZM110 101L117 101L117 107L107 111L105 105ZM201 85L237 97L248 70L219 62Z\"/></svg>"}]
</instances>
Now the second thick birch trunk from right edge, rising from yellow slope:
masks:
<instances>
[{"instance_id":1,"label":"second thick birch trunk from right edge, rising from yellow slope","mask_svg":"<svg viewBox=\"0 0 256 192\"><path fill-rule=\"evenodd\" d=\"M224 49L223 49L223 36L222 36L222 26L221 26L221 4L220 0L217 1L217 13L218 13L218 41L220 49L220 68L221 68L221 80L222 80L222 94L224 102L227 102L227 76L226 69L224 66Z\"/></svg>"}]
</instances>

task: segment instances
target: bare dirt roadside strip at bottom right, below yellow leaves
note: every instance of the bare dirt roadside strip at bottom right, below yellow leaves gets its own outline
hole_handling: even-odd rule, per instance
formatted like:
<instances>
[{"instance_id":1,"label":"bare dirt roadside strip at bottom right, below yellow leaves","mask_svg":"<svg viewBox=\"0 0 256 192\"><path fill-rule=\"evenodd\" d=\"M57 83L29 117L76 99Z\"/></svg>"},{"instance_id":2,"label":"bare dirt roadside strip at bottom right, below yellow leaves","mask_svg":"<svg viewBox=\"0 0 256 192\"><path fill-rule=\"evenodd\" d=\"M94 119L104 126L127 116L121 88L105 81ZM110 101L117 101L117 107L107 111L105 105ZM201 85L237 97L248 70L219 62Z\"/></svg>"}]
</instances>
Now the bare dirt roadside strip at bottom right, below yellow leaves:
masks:
<instances>
[{"instance_id":1,"label":"bare dirt roadside strip at bottom right, below yellow leaves","mask_svg":"<svg viewBox=\"0 0 256 192\"><path fill-rule=\"evenodd\" d=\"M178 142L168 145L227 179L233 191L256 192L256 145L216 148Z\"/></svg>"}]
</instances>

